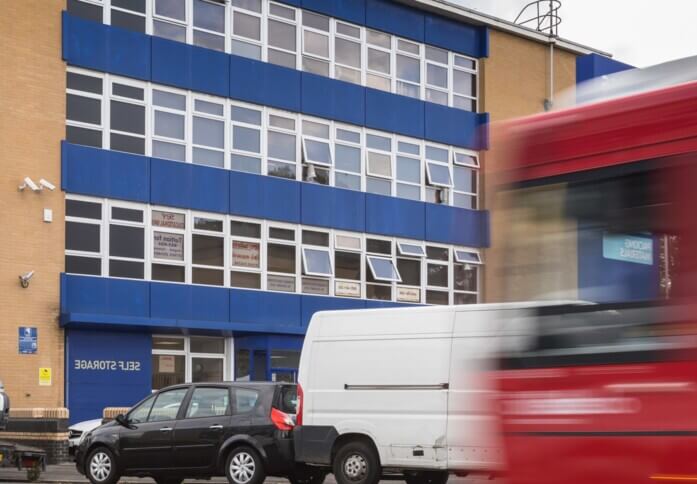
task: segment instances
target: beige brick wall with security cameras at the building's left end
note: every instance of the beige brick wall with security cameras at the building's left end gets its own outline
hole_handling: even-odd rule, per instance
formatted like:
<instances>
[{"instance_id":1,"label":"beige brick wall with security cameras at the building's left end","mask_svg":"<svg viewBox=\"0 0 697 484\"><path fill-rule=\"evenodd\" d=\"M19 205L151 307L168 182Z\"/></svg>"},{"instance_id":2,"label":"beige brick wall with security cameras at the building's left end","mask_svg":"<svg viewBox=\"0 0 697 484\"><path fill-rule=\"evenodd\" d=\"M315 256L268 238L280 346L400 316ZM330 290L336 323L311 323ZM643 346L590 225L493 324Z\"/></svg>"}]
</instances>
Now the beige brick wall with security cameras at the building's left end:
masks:
<instances>
[{"instance_id":1,"label":"beige brick wall with security cameras at the building's left end","mask_svg":"<svg viewBox=\"0 0 697 484\"><path fill-rule=\"evenodd\" d=\"M63 268L65 66L60 12L64 0L6 0L0 15L0 380L16 407L61 407L63 332L58 326ZM56 190L17 190L45 178ZM53 210L44 223L43 210ZM36 271L27 289L18 275ZM20 326L38 328L38 352L19 355ZM52 370L39 386L39 368Z\"/></svg>"}]
</instances>

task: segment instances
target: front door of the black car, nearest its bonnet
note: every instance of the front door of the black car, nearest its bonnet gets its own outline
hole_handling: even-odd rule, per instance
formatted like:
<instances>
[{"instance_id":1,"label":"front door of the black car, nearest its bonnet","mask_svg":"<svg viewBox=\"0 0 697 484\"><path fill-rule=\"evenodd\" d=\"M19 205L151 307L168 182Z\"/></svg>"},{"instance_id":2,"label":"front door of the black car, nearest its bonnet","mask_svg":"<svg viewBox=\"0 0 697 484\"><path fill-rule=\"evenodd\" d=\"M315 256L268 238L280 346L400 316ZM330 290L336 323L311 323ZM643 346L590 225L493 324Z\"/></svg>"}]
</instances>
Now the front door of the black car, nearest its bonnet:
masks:
<instances>
[{"instance_id":1,"label":"front door of the black car, nearest its bonnet","mask_svg":"<svg viewBox=\"0 0 697 484\"><path fill-rule=\"evenodd\" d=\"M129 413L129 427L119 435L124 468L169 469L174 465L174 429L188 391L189 387L179 387L159 392L144 402L150 403L149 408L139 406Z\"/></svg>"}]
</instances>

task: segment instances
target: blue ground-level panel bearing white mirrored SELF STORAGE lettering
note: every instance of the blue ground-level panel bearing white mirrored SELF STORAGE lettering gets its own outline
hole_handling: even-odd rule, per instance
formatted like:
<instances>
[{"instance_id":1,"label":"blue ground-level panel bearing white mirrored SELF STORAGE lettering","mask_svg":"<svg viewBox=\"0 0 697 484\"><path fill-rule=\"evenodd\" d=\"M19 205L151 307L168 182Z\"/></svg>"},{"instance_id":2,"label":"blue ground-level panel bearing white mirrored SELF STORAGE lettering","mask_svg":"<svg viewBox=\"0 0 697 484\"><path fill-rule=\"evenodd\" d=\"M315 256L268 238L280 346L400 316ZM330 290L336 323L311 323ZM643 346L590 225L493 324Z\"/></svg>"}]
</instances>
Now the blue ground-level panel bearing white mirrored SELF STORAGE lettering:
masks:
<instances>
[{"instance_id":1,"label":"blue ground-level panel bearing white mirrored SELF STORAGE lettering","mask_svg":"<svg viewBox=\"0 0 697 484\"><path fill-rule=\"evenodd\" d=\"M65 386L70 423L102 418L150 394L152 338L146 333L69 329Z\"/></svg>"}]
</instances>

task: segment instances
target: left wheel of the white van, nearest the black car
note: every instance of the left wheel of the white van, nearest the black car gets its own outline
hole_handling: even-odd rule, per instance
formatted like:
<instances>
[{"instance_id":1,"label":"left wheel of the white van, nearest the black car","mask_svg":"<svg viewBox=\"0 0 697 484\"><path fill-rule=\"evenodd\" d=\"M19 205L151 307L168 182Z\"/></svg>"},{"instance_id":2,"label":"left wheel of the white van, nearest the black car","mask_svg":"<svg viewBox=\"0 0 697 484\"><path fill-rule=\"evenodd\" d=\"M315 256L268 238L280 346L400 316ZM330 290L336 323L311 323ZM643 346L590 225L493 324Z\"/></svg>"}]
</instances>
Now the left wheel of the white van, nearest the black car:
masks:
<instances>
[{"instance_id":1,"label":"left wheel of the white van, nearest the black car","mask_svg":"<svg viewBox=\"0 0 697 484\"><path fill-rule=\"evenodd\" d=\"M380 480L380 461L372 446L348 442L334 457L334 478L338 484L376 484Z\"/></svg>"}]
</instances>

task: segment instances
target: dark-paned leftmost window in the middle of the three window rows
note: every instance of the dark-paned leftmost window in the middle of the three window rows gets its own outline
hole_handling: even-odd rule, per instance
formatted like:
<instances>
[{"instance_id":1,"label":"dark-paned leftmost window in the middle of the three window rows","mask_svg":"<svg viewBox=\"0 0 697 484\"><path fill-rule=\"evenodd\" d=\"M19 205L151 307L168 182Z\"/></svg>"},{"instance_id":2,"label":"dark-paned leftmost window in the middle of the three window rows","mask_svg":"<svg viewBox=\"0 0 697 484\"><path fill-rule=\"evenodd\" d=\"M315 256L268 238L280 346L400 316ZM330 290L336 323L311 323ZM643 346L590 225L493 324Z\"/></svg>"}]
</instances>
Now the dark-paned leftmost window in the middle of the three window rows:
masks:
<instances>
[{"instance_id":1,"label":"dark-paned leftmost window in the middle of the three window rows","mask_svg":"<svg viewBox=\"0 0 697 484\"><path fill-rule=\"evenodd\" d=\"M66 82L65 139L101 148L103 79L68 71Z\"/></svg>"}]
</instances>

